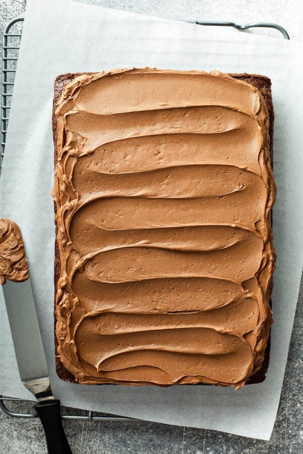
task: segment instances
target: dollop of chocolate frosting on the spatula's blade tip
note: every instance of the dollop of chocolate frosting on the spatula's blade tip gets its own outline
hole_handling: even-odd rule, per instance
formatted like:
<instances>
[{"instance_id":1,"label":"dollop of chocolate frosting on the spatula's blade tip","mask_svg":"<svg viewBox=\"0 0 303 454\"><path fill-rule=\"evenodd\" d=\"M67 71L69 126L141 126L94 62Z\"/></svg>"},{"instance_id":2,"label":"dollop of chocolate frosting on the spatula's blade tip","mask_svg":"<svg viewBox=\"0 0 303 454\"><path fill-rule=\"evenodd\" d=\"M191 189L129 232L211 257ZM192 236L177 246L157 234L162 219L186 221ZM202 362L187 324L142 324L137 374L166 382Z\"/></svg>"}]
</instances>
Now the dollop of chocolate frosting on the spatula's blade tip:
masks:
<instances>
[{"instance_id":1,"label":"dollop of chocolate frosting on the spatula's blade tip","mask_svg":"<svg viewBox=\"0 0 303 454\"><path fill-rule=\"evenodd\" d=\"M0 283L6 283L6 279L22 282L28 277L19 227L11 219L0 219Z\"/></svg>"}]
</instances>

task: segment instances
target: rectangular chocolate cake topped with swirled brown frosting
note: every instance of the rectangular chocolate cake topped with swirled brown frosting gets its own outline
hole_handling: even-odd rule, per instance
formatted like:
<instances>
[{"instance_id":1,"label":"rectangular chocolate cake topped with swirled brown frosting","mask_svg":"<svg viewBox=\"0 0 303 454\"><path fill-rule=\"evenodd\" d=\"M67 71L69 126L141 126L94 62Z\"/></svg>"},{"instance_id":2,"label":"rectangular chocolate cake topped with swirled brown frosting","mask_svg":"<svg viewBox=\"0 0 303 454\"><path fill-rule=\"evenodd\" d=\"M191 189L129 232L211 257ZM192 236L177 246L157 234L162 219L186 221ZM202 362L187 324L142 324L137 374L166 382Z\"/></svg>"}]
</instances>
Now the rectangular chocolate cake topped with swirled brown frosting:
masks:
<instances>
[{"instance_id":1,"label":"rectangular chocolate cake topped with swirled brown frosting","mask_svg":"<svg viewBox=\"0 0 303 454\"><path fill-rule=\"evenodd\" d=\"M55 81L57 373L265 379L275 252L265 76L118 69Z\"/></svg>"}]
</instances>

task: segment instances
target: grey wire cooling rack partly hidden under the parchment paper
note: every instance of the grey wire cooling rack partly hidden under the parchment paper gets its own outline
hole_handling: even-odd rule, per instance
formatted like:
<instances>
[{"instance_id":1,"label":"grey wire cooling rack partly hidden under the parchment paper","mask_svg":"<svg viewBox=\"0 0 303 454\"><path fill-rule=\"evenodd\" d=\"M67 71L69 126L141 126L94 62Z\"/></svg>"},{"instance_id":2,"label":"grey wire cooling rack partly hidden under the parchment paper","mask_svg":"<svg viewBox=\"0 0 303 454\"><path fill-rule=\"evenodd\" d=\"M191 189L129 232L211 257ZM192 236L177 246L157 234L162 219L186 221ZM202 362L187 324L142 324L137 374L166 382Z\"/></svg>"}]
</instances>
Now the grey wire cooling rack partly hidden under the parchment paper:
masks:
<instances>
[{"instance_id":1,"label":"grey wire cooling rack partly hidden under the parchment paper","mask_svg":"<svg viewBox=\"0 0 303 454\"><path fill-rule=\"evenodd\" d=\"M15 82L15 73L18 61L18 53L20 48L20 41L23 28L23 17L16 17L12 19L4 30L3 35L3 55L2 55L2 89L1 89L1 155L0 155L0 172L2 167L2 160L5 150L6 134L8 130L8 121L11 108L11 100L13 95L13 88ZM284 39L290 39L285 28L278 24L269 22L254 22L250 24L240 25L234 22L214 22L214 21L186 21L198 25L212 25L220 27L233 27L237 30L243 31L249 28L272 28L282 33ZM10 410L6 403L14 403L18 407L18 412ZM8 416L15 418L36 418L36 413L27 413L20 410L26 407L27 401L21 399L9 398L0 395L0 409L2 409ZM28 406L28 405L27 405ZM15 409L16 410L16 409ZM78 410L78 414L70 414L72 409L65 409L62 412L62 419L76 419L83 421L137 421L132 418L125 418L123 416L106 415L102 413L93 413L92 411ZM82 414L80 414L82 412Z\"/></svg>"}]
</instances>

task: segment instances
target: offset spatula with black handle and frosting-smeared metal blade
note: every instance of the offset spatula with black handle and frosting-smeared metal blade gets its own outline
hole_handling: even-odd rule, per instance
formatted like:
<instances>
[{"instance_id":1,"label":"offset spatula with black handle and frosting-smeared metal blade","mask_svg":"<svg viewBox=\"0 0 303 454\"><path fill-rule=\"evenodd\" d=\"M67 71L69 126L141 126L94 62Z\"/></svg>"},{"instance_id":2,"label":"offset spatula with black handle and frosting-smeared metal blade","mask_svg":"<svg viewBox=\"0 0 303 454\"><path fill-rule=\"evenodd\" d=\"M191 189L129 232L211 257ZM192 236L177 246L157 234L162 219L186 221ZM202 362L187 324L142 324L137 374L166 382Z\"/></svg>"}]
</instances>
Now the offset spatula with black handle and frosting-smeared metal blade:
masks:
<instances>
[{"instance_id":1,"label":"offset spatula with black handle and frosting-smeared metal blade","mask_svg":"<svg viewBox=\"0 0 303 454\"><path fill-rule=\"evenodd\" d=\"M0 281L2 283L20 377L37 399L34 405L49 454L71 454L55 399L38 325L27 260L18 225L0 219Z\"/></svg>"}]
</instances>

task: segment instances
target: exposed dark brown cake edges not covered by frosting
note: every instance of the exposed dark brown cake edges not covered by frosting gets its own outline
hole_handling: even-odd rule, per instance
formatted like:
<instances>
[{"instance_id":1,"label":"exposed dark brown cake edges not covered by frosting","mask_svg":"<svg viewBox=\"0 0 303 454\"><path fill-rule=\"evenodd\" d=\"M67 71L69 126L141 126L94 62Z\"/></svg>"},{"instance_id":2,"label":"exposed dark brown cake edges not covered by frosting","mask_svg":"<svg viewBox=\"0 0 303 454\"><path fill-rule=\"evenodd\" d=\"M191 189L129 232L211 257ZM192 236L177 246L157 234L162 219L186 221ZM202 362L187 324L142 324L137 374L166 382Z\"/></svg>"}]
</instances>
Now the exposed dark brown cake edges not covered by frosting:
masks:
<instances>
[{"instance_id":1,"label":"exposed dark brown cake edges not covered by frosting","mask_svg":"<svg viewBox=\"0 0 303 454\"><path fill-rule=\"evenodd\" d=\"M64 89L65 84L71 82L74 77L80 76L81 74L93 74L93 73L67 73L67 74L61 74L58 76L55 80L54 83L54 100L53 100L53 138L54 138L54 147L55 147L55 153L54 153L54 164L56 166L57 162L57 157L58 157L58 150L57 150L57 118L55 115L55 110L56 110L56 105L57 102L61 96L61 93ZM236 74L236 73L230 73L229 76L233 77L234 79L242 80L244 82L247 82L248 84L258 88L258 90L261 92L267 109L269 113L269 137L270 137L270 160L271 160L271 166L273 167L273 135L274 135L274 109L273 109L273 102L272 102L272 94L271 94L271 80L266 77L266 76L260 76L256 74ZM57 212L57 207L54 202L54 209L55 209L55 214ZM58 242L57 242L57 236L58 236L58 228L56 225L56 240L55 240L55 269L54 269L54 283L55 283L55 308L56 308L56 295L57 295L57 283L58 279L60 277L60 272L61 272L61 264L60 264L60 256L59 256L59 248L58 248ZM269 286L269 290L271 293L272 290L272 283ZM270 307L272 307L272 302L270 300L269 302ZM54 310L54 329L55 329L55 358L56 358L56 372L59 378L61 378L64 381L70 382L70 383L78 383L73 374L69 372L64 365L62 364L60 357L58 355L58 341L57 341L57 336L56 336L56 322L57 322L57 317L56 317L56 310ZM266 350L265 350L265 357L264 361L262 363L261 369L258 370L254 375L252 375L246 382L246 384L255 384L255 383L261 383L262 381L265 380L266 377L266 372L268 369L269 365L269 357L270 357L270 336L267 342ZM201 385L207 385L204 383L200 383Z\"/></svg>"}]
</instances>

